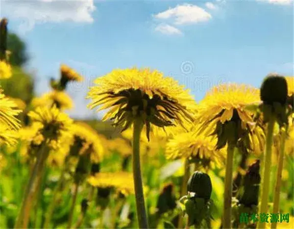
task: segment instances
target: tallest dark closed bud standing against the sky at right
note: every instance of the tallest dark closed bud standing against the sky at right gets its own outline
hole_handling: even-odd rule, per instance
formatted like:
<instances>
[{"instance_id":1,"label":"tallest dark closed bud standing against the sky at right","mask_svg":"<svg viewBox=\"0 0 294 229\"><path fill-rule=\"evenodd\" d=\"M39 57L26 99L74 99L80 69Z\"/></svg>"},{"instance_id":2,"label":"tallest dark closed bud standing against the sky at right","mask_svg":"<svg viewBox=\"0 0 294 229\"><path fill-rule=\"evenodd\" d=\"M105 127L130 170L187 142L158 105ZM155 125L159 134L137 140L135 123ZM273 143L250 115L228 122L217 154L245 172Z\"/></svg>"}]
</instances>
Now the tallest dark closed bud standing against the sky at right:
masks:
<instances>
[{"instance_id":1,"label":"tallest dark closed bud standing against the sky at right","mask_svg":"<svg viewBox=\"0 0 294 229\"><path fill-rule=\"evenodd\" d=\"M278 74L269 74L260 88L260 98L264 104L273 105L274 102L285 105L288 95L286 79Z\"/></svg>"}]
</instances>

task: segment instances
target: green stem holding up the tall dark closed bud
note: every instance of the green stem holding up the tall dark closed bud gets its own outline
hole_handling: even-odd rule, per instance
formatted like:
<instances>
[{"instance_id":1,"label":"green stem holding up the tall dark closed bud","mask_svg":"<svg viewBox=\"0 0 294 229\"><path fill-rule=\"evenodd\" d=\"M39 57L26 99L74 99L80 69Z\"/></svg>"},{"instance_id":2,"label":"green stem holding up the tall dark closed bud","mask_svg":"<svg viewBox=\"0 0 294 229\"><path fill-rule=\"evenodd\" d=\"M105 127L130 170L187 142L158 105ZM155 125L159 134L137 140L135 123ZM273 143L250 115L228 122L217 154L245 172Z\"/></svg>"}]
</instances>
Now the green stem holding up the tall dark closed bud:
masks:
<instances>
[{"instance_id":1,"label":"green stem holding up the tall dark closed bud","mask_svg":"<svg viewBox=\"0 0 294 229\"><path fill-rule=\"evenodd\" d=\"M270 116L268 123L268 133L267 133L267 143L266 143L266 154L264 158L264 174L262 179L261 186L261 203L259 213L267 213L268 210L268 199L270 192L270 166L271 166L271 149L272 149L272 138L273 138L273 127L274 127L275 118L273 115ZM264 229L266 223L257 223L258 229Z\"/></svg>"}]
</instances>

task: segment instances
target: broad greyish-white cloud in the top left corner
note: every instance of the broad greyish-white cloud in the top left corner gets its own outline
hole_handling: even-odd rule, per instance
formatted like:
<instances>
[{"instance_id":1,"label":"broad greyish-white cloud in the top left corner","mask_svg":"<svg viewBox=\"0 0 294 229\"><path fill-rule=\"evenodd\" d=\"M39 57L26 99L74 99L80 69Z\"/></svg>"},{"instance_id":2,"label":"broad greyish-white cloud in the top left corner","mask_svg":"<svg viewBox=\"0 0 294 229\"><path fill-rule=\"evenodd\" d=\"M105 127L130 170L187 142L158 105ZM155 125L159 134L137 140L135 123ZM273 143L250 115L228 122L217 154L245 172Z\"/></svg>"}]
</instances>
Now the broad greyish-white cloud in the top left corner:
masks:
<instances>
[{"instance_id":1,"label":"broad greyish-white cloud in the top left corner","mask_svg":"<svg viewBox=\"0 0 294 229\"><path fill-rule=\"evenodd\" d=\"M1 1L1 14L21 19L20 29L28 31L47 22L93 23L94 0L9 0Z\"/></svg>"}]
</instances>

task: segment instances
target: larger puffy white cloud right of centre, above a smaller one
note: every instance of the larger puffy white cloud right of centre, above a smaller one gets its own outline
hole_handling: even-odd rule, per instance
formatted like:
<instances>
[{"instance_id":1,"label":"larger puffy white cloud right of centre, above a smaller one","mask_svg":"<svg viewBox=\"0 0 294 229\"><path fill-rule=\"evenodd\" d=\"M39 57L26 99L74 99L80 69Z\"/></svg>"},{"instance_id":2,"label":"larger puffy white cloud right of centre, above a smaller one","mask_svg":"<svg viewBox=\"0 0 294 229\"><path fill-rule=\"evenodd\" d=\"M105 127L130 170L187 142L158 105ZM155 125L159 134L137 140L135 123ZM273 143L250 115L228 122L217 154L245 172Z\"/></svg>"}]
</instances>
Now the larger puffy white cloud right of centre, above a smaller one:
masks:
<instances>
[{"instance_id":1,"label":"larger puffy white cloud right of centre, above a smaller one","mask_svg":"<svg viewBox=\"0 0 294 229\"><path fill-rule=\"evenodd\" d=\"M212 18L205 9L193 4L177 5L174 8L156 14L154 17L162 20L172 19L175 25L204 22Z\"/></svg>"}]
</instances>

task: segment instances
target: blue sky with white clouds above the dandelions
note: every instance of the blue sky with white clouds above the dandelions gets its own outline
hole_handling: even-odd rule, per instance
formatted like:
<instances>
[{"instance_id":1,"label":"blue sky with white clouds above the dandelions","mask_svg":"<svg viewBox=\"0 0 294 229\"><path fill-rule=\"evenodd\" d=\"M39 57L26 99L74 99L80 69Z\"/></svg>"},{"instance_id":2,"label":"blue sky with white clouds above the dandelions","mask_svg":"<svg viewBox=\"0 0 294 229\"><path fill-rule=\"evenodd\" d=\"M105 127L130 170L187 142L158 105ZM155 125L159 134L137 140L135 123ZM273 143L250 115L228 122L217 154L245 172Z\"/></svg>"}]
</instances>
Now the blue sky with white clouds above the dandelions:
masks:
<instances>
[{"instance_id":1,"label":"blue sky with white clouds above the dandelions","mask_svg":"<svg viewBox=\"0 0 294 229\"><path fill-rule=\"evenodd\" d=\"M92 81L115 68L150 67L174 77L199 101L224 82L260 86L270 72L293 75L293 1L1 0L1 17L27 43L36 92L49 91L66 63L73 117L86 109Z\"/></svg>"}]
</instances>

